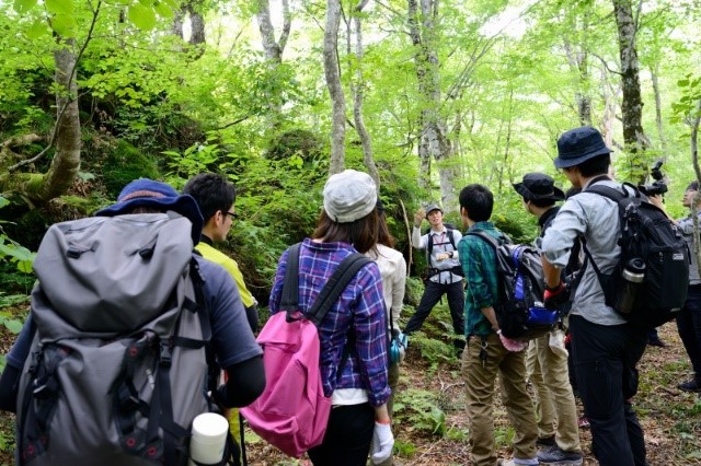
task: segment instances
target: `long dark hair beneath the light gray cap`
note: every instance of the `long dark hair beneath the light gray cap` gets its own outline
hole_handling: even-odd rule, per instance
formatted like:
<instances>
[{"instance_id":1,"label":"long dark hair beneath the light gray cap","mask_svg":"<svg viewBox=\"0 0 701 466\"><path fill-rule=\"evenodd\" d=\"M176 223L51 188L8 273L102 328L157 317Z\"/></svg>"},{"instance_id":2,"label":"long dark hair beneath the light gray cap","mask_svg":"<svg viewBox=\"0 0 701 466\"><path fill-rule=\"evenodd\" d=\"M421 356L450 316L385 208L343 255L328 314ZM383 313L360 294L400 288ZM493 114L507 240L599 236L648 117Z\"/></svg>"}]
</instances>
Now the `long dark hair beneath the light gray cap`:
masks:
<instances>
[{"instance_id":1,"label":"long dark hair beneath the light gray cap","mask_svg":"<svg viewBox=\"0 0 701 466\"><path fill-rule=\"evenodd\" d=\"M378 237L377 210L354 222L337 223L331 220L325 210L321 210L317 229L311 237L324 243L343 242L352 244L358 253L367 253L377 244Z\"/></svg>"}]
</instances>

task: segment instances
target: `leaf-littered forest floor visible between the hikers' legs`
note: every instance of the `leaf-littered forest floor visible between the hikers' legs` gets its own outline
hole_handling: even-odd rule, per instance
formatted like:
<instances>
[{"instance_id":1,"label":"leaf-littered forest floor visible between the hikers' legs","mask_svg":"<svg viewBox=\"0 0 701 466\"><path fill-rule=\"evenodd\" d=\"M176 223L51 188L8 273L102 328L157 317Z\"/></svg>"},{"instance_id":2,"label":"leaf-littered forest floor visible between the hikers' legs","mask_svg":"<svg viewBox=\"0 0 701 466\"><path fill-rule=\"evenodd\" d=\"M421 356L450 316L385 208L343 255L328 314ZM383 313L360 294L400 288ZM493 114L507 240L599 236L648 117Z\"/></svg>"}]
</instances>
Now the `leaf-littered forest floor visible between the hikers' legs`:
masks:
<instances>
[{"instance_id":1,"label":"leaf-littered forest floor visible between the hikers' legs","mask_svg":"<svg viewBox=\"0 0 701 466\"><path fill-rule=\"evenodd\" d=\"M429 319L433 318L429 317ZM674 323L659 329L667 348L648 347L640 363L640 393L634 406L645 431L652 466L701 465L701 398L680 392L677 383L689 376L687 356ZM14 336L0 335L0 349L9 349ZM444 345L445 346L445 345ZM398 465L450 466L468 464L469 429L464 413L464 387L459 361L426 358L414 346L401 365L395 401L394 435ZM433 362L429 362L432 360ZM438 360L438 362L436 362ZM582 407L578 407L579 412ZM0 415L0 465L11 465L13 417ZM591 436L582 429L585 465L597 465L590 453ZM496 396L495 436L501 457L510 457L513 430ZM250 465L303 466L306 459L290 459L246 429Z\"/></svg>"}]
</instances>

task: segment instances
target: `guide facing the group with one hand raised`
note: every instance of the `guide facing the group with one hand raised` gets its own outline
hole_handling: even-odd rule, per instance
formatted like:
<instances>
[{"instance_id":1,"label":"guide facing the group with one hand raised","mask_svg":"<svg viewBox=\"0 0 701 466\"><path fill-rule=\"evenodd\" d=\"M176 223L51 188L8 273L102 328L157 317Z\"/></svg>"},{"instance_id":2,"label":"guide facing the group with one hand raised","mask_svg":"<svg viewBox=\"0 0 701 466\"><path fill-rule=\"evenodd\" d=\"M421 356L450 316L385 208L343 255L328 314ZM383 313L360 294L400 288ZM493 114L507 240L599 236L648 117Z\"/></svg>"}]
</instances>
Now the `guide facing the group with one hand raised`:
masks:
<instances>
[{"instance_id":1,"label":"guide facing the group with one hand raised","mask_svg":"<svg viewBox=\"0 0 701 466\"><path fill-rule=\"evenodd\" d=\"M428 233L421 234L421 223L424 218L430 223ZM412 244L417 249L426 249L427 276L424 280L424 294L416 312L411 316L404 334L411 335L420 330L428 314L444 295L448 295L448 307L452 318L452 329L456 335L463 335L464 319L462 306L464 293L462 291L462 270L458 255L458 242L462 235L455 228L443 223L443 209L437 203L429 203L426 210L418 209L414 213L414 229ZM464 348L464 341L456 338L456 352Z\"/></svg>"}]
</instances>

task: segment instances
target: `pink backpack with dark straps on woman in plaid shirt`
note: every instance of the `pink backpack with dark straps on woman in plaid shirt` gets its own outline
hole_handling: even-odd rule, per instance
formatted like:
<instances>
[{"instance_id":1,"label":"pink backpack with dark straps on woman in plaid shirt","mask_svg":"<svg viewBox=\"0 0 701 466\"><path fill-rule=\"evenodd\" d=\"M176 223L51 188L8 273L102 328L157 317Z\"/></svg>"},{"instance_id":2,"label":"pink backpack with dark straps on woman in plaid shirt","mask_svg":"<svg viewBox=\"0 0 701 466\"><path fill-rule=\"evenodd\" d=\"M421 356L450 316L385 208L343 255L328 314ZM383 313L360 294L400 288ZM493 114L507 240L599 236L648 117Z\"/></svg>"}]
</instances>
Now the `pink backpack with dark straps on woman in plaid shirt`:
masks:
<instances>
[{"instance_id":1,"label":"pink backpack with dark straps on woman in plaid shirt","mask_svg":"<svg viewBox=\"0 0 701 466\"><path fill-rule=\"evenodd\" d=\"M241 408L255 433L297 458L321 444L331 412L319 369L318 326L350 279L370 261L359 253L346 257L304 313L299 308L299 243L289 248L280 312L267 321L257 338L263 347L265 391ZM344 350L338 374L346 360Z\"/></svg>"}]
</instances>

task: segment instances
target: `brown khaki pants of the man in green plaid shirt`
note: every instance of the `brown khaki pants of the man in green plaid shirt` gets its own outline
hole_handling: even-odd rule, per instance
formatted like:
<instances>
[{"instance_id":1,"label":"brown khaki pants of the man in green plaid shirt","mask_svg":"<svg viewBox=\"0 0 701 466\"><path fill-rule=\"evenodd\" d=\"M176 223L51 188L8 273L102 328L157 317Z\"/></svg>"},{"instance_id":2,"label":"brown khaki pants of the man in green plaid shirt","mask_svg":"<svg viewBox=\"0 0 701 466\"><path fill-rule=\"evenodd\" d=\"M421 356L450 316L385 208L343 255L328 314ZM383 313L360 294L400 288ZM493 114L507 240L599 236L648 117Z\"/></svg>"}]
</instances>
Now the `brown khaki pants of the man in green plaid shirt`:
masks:
<instances>
[{"instance_id":1,"label":"brown khaki pants of the man in green plaid shirt","mask_svg":"<svg viewBox=\"0 0 701 466\"><path fill-rule=\"evenodd\" d=\"M533 404L526 391L525 351L509 352L496 334L486 337L486 360L480 359L481 337L470 337L462 353L468 421L470 422L470 464L494 466L494 387L499 374L502 400L514 427L514 457L535 458L538 428Z\"/></svg>"}]
</instances>

